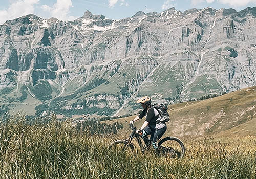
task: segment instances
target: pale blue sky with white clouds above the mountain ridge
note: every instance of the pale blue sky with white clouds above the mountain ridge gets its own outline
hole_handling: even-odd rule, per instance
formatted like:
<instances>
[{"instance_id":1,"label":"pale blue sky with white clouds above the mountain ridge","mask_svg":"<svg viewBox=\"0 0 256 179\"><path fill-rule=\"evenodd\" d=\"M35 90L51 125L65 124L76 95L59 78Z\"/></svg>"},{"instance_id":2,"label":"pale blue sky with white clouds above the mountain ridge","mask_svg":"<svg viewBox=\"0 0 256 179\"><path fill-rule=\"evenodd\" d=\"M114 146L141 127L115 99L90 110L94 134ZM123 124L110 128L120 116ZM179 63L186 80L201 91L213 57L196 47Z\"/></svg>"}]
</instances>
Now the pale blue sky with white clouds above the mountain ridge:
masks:
<instances>
[{"instance_id":1,"label":"pale blue sky with white clouds above the mountain ridge","mask_svg":"<svg viewBox=\"0 0 256 179\"><path fill-rule=\"evenodd\" d=\"M138 11L159 13L172 7L184 12L205 7L241 11L255 6L256 0L0 0L0 24L27 14L74 20L89 10L95 15L118 20L132 17Z\"/></svg>"}]
</instances>

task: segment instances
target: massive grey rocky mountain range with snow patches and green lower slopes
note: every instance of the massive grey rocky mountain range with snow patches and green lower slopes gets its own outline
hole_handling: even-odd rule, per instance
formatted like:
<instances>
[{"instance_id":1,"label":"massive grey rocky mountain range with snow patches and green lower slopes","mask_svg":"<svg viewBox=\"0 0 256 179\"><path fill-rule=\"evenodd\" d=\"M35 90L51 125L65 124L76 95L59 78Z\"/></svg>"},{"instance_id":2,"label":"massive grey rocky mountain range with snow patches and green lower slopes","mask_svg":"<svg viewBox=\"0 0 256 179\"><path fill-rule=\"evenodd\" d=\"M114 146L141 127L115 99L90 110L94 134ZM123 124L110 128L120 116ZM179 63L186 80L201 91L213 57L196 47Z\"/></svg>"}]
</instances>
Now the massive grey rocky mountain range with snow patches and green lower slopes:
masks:
<instances>
[{"instance_id":1,"label":"massive grey rocky mountain range with snow patches and green lower slopes","mask_svg":"<svg viewBox=\"0 0 256 179\"><path fill-rule=\"evenodd\" d=\"M0 111L29 103L37 113L133 114L142 95L177 102L254 86L255 25L256 7L8 20Z\"/></svg>"}]
</instances>

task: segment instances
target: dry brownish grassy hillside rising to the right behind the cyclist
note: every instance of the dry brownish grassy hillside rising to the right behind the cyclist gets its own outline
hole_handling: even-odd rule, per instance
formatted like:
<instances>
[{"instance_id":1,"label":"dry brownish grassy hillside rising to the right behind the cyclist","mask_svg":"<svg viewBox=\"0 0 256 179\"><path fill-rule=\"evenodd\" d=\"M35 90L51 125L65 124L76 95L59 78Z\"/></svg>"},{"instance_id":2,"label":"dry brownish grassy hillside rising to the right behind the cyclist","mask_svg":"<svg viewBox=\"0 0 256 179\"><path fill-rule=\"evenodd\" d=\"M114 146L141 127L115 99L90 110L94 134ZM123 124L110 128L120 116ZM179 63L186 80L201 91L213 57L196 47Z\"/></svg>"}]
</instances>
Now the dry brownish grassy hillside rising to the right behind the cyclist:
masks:
<instances>
[{"instance_id":1,"label":"dry brownish grassy hillside rising to the right behind the cyclist","mask_svg":"<svg viewBox=\"0 0 256 179\"><path fill-rule=\"evenodd\" d=\"M171 121L167 123L167 136L256 135L256 86L207 100L170 105L168 110ZM122 122L124 132L134 117L113 121ZM141 126L143 121L136 125Z\"/></svg>"}]
</instances>

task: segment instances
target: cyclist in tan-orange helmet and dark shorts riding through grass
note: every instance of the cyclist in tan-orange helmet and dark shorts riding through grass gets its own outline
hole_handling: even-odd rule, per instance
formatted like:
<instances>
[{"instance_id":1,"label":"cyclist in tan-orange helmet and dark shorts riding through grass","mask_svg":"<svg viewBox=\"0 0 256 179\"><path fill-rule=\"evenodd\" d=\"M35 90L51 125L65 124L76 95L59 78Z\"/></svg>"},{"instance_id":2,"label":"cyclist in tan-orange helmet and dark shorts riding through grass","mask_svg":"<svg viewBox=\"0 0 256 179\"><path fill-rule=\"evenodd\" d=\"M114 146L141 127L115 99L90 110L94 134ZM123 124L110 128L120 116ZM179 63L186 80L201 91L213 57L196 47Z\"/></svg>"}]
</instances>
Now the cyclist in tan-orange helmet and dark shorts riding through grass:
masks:
<instances>
[{"instance_id":1,"label":"cyclist in tan-orange helmet and dark shorts riding through grass","mask_svg":"<svg viewBox=\"0 0 256 179\"><path fill-rule=\"evenodd\" d=\"M136 103L141 104L143 111L140 115L131 120L130 124L133 124L135 121L146 116L145 122L136 132L142 132L142 136L144 137L151 135L150 141L152 141L154 149L157 149L156 142L163 136L164 132L167 130L167 126L165 122L160 122L161 116L159 115L157 109L151 105L150 97L144 96L136 101Z\"/></svg>"}]
</instances>

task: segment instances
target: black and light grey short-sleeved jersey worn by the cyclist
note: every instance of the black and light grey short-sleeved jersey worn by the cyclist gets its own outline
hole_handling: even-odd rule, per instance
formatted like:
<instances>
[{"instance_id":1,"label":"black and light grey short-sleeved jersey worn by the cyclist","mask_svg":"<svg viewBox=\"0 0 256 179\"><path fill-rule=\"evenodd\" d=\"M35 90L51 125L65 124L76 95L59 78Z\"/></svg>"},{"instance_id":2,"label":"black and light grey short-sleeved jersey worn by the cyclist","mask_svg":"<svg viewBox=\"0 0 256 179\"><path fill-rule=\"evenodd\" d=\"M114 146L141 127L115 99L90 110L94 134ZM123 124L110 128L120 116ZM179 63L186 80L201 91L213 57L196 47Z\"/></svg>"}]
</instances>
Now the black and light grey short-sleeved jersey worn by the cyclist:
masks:
<instances>
[{"instance_id":1,"label":"black and light grey short-sleeved jersey worn by the cyclist","mask_svg":"<svg viewBox=\"0 0 256 179\"><path fill-rule=\"evenodd\" d=\"M148 125L154 129L161 129L166 126L165 123L160 122L161 116L153 106L148 111L147 108L145 108L139 115L139 118L142 119L144 116L146 116L146 121L149 123Z\"/></svg>"}]
</instances>

